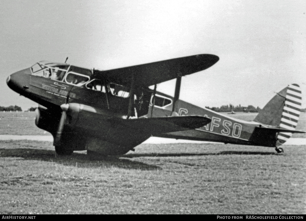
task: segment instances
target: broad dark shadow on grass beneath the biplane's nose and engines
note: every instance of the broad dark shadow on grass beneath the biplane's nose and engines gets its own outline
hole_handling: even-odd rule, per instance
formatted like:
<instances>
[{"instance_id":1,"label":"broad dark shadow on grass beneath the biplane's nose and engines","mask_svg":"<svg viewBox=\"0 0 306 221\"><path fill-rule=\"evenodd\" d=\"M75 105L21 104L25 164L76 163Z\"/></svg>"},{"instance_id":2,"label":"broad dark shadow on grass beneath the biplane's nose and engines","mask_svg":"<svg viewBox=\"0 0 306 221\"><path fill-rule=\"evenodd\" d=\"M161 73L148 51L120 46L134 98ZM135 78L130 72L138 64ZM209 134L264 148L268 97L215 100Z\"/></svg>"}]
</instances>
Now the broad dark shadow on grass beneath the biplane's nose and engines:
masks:
<instances>
[{"instance_id":1,"label":"broad dark shadow on grass beneath the biplane's nose and engines","mask_svg":"<svg viewBox=\"0 0 306 221\"><path fill-rule=\"evenodd\" d=\"M104 157L99 160L89 159L86 154L73 153L69 156L55 155L52 150L37 150L29 148L0 149L0 157L22 157L24 160L41 160L46 162L60 163L66 166L76 166L84 168L93 167L118 167L124 169L158 170L160 167L136 162L119 157Z\"/></svg>"}]
</instances>

